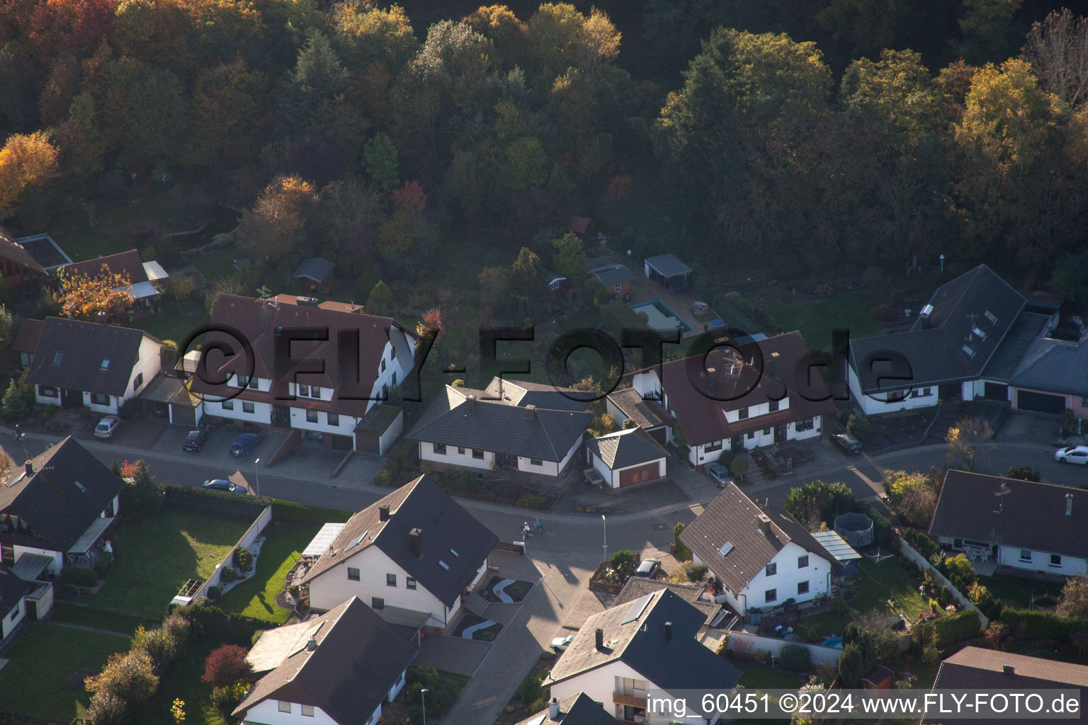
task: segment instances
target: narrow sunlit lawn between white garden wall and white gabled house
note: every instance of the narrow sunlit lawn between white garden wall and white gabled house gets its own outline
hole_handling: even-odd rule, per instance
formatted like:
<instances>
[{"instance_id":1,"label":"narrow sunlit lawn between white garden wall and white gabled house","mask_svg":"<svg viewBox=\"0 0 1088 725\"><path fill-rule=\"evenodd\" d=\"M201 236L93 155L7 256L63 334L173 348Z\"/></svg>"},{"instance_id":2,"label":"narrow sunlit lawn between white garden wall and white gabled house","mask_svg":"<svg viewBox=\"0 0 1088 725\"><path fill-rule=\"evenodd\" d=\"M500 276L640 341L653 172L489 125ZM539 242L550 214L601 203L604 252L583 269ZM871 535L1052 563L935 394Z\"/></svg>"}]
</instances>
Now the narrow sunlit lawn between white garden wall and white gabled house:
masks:
<instances>
[{"instance_id":1,"label":"narrow sunlit lawn between white garden wall and white gabled house","mask_svg":"<svg viewBox=\"0 0 1088 725\"><path fill-rule=\"evenodd\" d=\"M285 623L290 612L276 607L275 597L283 591L284 577L319 528L281 524L261 547L256 574L226 592L217 605L224 612L275 624Z\"/></svg>"}]
</instances>

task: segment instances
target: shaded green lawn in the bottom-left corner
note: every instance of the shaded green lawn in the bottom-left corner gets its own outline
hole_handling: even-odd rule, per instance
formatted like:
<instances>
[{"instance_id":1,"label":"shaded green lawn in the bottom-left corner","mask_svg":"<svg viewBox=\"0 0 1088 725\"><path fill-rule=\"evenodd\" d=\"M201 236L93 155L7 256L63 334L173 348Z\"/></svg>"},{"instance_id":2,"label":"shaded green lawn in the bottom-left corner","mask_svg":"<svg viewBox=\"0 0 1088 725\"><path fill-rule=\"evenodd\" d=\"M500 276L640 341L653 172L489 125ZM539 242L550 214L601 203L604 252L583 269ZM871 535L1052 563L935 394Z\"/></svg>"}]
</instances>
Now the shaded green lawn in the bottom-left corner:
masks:
<instances>
[{"instance_id":1,"label":"shaded green lawn in the bottom-left corner","mask_svg":"<svg viewBox=\"0 0 1088 725\"><path fill-rule=\"evenodd\" d=\"M55 624L36 624L4 657L0 713L71 723L86 712L90 693L83 679L97 674L128 638Z\"/></svg>"}]
</instances>

